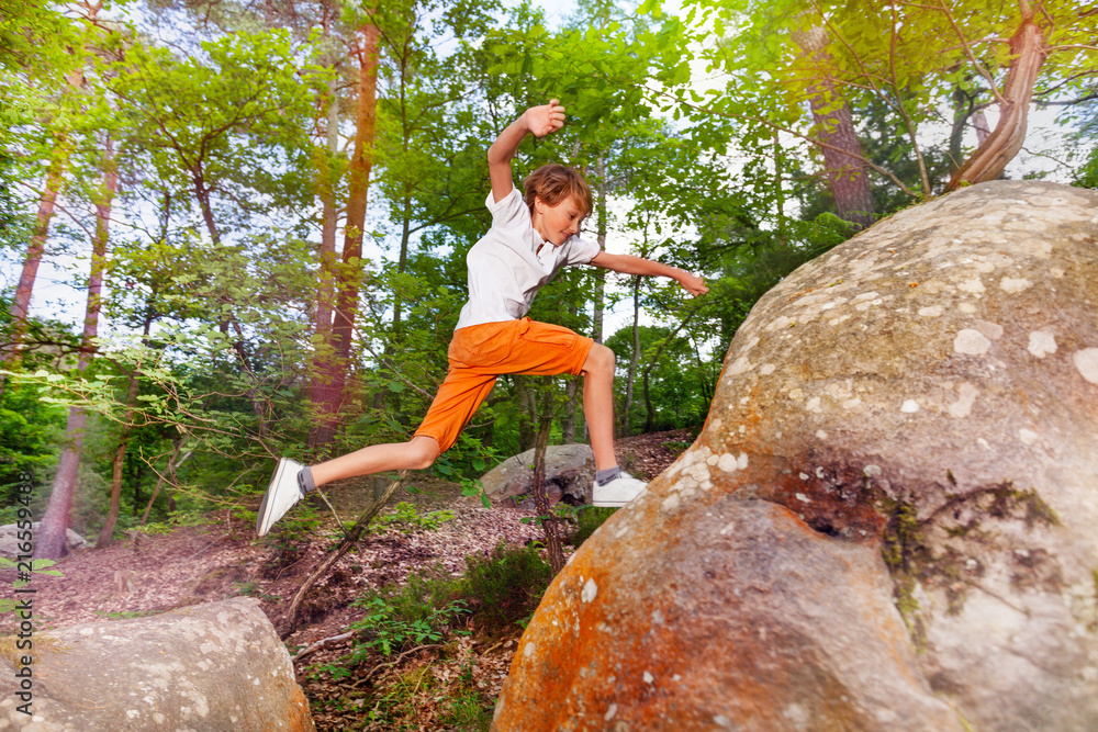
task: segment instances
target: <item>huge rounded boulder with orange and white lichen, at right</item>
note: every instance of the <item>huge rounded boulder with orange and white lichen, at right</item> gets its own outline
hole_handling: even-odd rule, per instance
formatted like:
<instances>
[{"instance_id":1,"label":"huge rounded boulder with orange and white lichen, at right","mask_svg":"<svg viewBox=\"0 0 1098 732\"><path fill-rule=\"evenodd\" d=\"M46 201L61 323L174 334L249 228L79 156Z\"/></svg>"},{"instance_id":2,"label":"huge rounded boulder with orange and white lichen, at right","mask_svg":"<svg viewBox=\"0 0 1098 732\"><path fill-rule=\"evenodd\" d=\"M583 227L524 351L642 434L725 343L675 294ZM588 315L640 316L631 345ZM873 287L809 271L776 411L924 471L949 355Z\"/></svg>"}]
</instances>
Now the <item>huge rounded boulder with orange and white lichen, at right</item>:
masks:
<instances>
[{"instance_id":1,"label":"huge rounded boulder with orange and white lichen, at right","mask_svg":"<svg viewBox=\"0 0 1098 732\"><path fill-rule=\"evenodd\" d=\"M964 189L755 305L494 729L1098 729L1095 527L1098 193Z\"/></svg>"}]
</instances>

